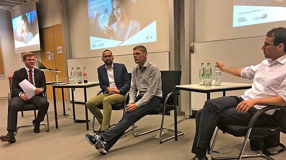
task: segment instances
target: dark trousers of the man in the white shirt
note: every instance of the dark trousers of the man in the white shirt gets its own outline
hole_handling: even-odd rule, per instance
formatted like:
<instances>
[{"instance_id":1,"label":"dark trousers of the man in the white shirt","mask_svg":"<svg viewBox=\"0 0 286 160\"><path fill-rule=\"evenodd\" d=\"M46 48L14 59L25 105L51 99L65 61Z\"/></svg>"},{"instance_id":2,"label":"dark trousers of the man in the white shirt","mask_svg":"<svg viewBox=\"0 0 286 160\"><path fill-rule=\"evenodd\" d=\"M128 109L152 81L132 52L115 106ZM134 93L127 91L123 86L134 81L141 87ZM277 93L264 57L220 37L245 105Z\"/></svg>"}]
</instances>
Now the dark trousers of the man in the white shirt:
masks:
<instances>
[{"instance_id":1,"label":"dark trousers of the man in the white shirt","mask_svg":"<svg viewBox=\"0 0 286 160\"><path fill-rule=\"evenodd\" d=\"M192 146L192 153L196 154L197 147L209 149L215 127L219 125L248 125L257 109L250 108L247 113L236 110L243 99L236 96L220 97L205 102L205 105L196 114L196 133ZM270 115L260 116L255 126L265 125Z\"/></svg>"}]
</instances>

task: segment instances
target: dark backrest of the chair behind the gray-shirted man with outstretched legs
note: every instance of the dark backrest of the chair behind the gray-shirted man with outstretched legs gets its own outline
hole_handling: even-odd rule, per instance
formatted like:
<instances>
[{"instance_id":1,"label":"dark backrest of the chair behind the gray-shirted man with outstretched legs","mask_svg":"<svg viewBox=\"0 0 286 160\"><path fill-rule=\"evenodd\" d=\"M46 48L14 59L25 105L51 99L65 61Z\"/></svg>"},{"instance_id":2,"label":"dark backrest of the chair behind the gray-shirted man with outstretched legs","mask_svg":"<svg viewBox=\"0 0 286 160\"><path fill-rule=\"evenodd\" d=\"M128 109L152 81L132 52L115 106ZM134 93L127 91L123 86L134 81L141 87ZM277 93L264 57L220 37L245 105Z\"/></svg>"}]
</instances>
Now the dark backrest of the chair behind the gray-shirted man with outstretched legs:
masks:
<instances>
[{"instance_id":1,"label":"dark backrest of the chair behind the gray-shirted man with outstretched legs","mask_svg":"<svg viewBox=\"0 0 286 160\"><path fill-rule=\"evenodd\" d=\"M174 91L174 87L176 85L180 85L181 81L181 71L161 71L161 79L162 79L162 92L163 99L161 103L164 103L165 97ZM174 96L171 96L168 100L168 105L174 105Z\"/></svg>"}]
</instances>

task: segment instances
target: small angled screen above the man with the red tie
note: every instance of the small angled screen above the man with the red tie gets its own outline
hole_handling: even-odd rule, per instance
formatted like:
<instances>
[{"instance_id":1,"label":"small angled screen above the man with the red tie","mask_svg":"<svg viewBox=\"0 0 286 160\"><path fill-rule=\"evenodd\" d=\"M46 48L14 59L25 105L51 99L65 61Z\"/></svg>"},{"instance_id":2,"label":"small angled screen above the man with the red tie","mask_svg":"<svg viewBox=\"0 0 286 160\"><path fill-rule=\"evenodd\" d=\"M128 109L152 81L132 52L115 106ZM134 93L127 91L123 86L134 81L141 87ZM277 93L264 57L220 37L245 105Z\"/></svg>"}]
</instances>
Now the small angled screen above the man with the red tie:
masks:
<instances>
[{"instance_id":1,"label":"small angled screen above the man with the red tie","mask_svg":"<svg viewBox=\"0 0 286 160\"><path fill-rule=\"evenodd\" d=\"M36 2L11 12L15 53L40 50Z\"/></svg>"}]
</instances>

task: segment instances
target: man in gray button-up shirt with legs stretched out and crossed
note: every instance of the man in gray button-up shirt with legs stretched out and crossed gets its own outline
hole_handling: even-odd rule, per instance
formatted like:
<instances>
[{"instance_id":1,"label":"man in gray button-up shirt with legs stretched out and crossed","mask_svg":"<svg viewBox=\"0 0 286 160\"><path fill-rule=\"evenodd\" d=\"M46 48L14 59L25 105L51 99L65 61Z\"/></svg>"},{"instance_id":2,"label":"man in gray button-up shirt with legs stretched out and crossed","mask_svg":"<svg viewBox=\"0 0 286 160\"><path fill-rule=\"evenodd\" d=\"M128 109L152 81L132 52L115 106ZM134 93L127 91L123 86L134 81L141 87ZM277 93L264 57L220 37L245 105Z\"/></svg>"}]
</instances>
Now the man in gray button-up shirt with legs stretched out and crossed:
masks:
<instances>
[{"instance_id":1,"label":"man in gray button-up shirt with legs stretched out and crossed","mask_svg":"<svg viewBox=\"0 0 286 160\"><path fill-rule=\"evenodd\" d=\"M162 81L159 68L147 60L147 50L144 46L133 48L133 56L137 65L132 71L130 100L122 119L108 132L100 135L85 134L87 141L101 154L107 154L132 124L151 113L161 103Z\"/></svg>"}]
</instances>

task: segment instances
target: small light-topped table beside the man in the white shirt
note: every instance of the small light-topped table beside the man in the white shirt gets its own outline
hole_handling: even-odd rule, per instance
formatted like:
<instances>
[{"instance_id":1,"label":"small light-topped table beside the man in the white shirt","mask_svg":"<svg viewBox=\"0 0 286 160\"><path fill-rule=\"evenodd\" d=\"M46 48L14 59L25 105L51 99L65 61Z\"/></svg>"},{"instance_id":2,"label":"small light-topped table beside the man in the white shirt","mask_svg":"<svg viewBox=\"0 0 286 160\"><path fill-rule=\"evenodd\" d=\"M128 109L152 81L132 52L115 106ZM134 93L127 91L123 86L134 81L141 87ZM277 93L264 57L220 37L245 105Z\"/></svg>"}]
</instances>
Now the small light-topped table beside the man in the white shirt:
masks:
<instances>
[{"instance_id":1,"label":"small light-topped table beside the man in the white shirt","mask_svg":"<svg viewBox=\"0 0 286 160\"><path fill-rule=\"evenodd\" d=\"M174 105L177 105L177 94L179 90L190 91L190 92L199 92L199 93L207 93L207 100L211 99L211 92L222 92L223 96L225 96L226 91L232 90L241 90L241 89L249 89L252 84L247 83L231 83L231 82L221 82L221 86L211 86L205 87L199 84L186 84L186 85L176 85L174 92ZM175 140L178 140L177 133L177 107L174 109L174 119L175 119Z\"/></svg>"}]
</instances>

